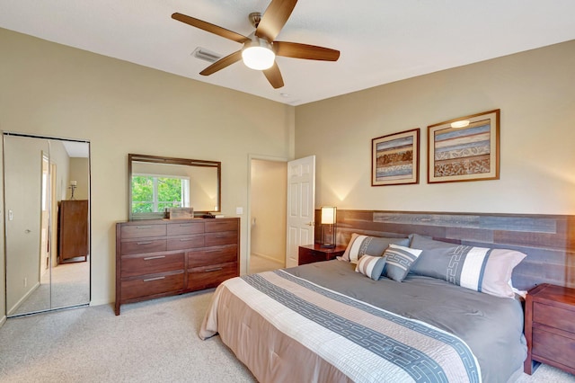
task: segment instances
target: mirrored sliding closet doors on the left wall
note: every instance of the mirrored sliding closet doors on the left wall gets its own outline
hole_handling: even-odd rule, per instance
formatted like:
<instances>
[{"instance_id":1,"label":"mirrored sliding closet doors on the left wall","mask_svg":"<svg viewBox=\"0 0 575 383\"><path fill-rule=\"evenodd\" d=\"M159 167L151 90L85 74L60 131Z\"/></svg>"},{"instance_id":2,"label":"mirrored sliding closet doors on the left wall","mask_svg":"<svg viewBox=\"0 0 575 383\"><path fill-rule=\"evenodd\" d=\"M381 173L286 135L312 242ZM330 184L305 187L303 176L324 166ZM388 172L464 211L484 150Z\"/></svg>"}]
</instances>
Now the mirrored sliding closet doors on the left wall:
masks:
<instances>
[{"instance_id":1,"label":"mirrored sliding closet doors on the left wall","mask_svg":"<svg viewBox=\"0 0 575 383\"><path fill-rule=\"evenodd\" d=\"M90 303L90 143L4 132L6 313Z\"/></svg>"}]
</instances>

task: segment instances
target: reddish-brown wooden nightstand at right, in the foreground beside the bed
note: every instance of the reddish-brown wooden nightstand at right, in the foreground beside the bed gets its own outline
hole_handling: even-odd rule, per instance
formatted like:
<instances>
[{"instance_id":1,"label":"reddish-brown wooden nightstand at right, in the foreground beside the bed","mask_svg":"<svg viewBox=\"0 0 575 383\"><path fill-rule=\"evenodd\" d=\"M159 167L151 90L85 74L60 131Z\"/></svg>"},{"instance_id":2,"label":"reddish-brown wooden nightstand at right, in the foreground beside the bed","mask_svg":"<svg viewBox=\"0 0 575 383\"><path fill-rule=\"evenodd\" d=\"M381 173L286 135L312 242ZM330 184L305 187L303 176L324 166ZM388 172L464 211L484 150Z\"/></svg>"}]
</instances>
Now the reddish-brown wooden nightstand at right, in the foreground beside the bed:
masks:
<instances>
[{"instance_id":1,"label":"reddish-brown wooden nightstand at right, in the foreground beside the bed","mask_svg":"<svg viewBox=\"0 0 575 383\"><path fill-rule=\"evenodd\" d=\"M526 374L536 370L537 362L575 374L575 289L547 283L530 289L525 302L525 336Z\"/></svg>"}]
</instances>

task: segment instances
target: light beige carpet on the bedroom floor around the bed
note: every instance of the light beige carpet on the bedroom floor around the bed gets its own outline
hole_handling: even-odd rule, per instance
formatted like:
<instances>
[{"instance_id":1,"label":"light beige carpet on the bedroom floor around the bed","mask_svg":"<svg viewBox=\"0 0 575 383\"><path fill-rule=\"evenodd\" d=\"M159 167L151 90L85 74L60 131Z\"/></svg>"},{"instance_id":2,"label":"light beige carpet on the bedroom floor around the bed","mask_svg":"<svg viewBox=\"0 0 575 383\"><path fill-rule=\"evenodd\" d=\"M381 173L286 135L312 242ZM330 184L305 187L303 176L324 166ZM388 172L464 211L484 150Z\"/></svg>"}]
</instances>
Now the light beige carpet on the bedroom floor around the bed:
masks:
<instances>
[{"instance_id":1,"label":"light beige carpet on the bedroom floor around the bed","mask_svg":"<svg viewBox=\"0 0 575 383\"><path fill-rule=\"evenodd\" d=\"M2 382L254 382L218 336L199 325L213 289L122 305L8 319L0 328ZM574 383L543 365L520 383Z\"/></svg>"}]
</instances>

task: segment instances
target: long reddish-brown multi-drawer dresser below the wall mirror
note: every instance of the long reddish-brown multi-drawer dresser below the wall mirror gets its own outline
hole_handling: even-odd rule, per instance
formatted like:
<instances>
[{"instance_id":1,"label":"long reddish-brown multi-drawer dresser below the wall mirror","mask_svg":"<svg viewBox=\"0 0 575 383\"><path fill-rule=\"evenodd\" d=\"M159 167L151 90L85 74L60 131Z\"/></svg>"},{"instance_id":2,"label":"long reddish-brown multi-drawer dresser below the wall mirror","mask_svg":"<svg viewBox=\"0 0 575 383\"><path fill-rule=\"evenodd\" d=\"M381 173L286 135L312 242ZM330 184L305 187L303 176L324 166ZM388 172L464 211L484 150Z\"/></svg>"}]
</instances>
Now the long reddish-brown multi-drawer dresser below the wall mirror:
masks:
<instances>
[{"instance_id":1,"label":"long reddish-brown multi-drawer dresser below the wall mirror","mask_svg":"<svg viewBox=\"0 0 575 383\"><path fill-rule=\"evenodd\" d=\"M116 224L116 305L216 287L239 272L240 218Z\"/></svg>"}]
</instances>

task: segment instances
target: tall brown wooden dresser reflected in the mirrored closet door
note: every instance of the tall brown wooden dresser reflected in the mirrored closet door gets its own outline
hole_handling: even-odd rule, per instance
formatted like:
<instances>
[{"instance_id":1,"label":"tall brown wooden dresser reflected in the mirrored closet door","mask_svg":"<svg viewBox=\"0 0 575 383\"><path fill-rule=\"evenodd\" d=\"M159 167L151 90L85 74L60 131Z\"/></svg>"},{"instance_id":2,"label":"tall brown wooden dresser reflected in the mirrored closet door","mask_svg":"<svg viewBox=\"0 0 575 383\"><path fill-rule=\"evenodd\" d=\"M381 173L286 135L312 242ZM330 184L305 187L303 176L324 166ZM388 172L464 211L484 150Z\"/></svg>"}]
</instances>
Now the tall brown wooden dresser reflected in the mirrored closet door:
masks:
<instances>
[{"instance_id":1,"label":"tall brown wooden dresser reflected in the mirrored closet door","mask_svg":"<svg viewBox=\"0 0 575 383\"><path fill-rule=\"evenodd\" d=\"M61 200L57 210L58 263L88 258L88 200Z\"/></svg>"}]
</instances>

